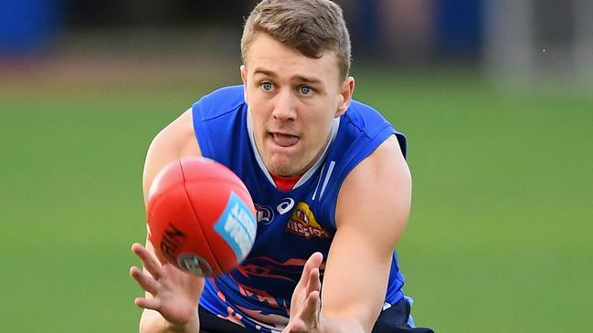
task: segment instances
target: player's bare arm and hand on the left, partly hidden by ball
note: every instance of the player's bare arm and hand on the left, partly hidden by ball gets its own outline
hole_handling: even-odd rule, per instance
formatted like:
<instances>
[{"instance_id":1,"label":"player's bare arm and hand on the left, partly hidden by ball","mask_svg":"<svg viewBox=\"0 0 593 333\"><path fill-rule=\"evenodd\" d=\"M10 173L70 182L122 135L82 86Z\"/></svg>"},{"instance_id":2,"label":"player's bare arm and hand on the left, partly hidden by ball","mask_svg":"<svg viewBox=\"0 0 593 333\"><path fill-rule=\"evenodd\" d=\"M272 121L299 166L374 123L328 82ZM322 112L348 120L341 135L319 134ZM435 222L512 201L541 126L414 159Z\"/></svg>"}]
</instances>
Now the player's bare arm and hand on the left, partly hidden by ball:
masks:
<instances>
[{"instance_id":1,"label":"player's bare arm and hand on the left, partly hidden by ball","mask_svg":"<svg viewBox=\"0 0 593 333\"><path fill-rule=\"evenodd\" d=\"M148 149L143 170L144 201L146 202L148 189L156 173L167 162L200 155L191 110L187 110L164 128ZM132 251L143 263L143 270L138 267L130 269L130 275L145 291L144 297L137 297L134 301L138 307L144 308L140 331L197 332L197 301L203 290L204 279L159 261L148 240L145 247L132 245Z\"/></svg>"}]
</instances>

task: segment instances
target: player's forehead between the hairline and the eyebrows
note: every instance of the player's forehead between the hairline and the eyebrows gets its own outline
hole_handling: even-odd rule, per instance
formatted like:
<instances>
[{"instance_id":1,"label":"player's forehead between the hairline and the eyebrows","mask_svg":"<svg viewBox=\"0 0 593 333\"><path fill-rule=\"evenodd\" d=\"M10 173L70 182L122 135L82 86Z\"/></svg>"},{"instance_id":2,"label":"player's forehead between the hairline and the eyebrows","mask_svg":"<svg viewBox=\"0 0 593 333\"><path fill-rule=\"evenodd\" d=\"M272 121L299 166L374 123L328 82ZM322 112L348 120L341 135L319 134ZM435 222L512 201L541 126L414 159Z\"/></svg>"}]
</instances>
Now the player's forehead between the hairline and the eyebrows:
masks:
<instances>
[{"instance_id":1,"label":"player's forehead between the hairline and the eyebrows","mask_svg":"<svg viewBox=\"0 0 593 333\"><path fill-rule=\"evenodd\" d=\"M301 76L326 81L339 78L338 60L334 52L322 57L306 57L296 48L281 44L266 34L254 36L246 54L248 72L272 72L278 77Z\"/></svg>"}]
</instances>

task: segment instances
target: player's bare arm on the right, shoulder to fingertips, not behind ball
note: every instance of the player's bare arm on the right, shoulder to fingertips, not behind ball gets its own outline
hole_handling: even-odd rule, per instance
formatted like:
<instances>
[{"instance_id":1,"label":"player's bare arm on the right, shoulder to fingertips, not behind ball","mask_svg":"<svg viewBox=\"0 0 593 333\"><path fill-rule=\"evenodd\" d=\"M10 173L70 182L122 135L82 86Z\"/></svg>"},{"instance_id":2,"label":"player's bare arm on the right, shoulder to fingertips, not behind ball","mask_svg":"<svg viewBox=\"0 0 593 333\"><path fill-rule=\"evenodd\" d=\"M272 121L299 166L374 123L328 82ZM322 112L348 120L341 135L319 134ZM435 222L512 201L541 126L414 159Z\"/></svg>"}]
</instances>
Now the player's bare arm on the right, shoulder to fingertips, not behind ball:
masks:
<instances>
[{"instance_id":1,"label":"player's bare arm on the right, shoulder to fingertips, not behind ball","mask_svg":"<svg viewBox=\"0 0 593 333\"><path fill-rule=\"evenodd\" d=\"M319 283L321 256L303 271L286 332L370 332L387 291L393 250L408 221L411 178L397 139L389 138L353 170L336 206L337 231ZM319 297L319 292L322 297ZM323 299L323 303L321 302Z\"/></svg>"}]
</instances>

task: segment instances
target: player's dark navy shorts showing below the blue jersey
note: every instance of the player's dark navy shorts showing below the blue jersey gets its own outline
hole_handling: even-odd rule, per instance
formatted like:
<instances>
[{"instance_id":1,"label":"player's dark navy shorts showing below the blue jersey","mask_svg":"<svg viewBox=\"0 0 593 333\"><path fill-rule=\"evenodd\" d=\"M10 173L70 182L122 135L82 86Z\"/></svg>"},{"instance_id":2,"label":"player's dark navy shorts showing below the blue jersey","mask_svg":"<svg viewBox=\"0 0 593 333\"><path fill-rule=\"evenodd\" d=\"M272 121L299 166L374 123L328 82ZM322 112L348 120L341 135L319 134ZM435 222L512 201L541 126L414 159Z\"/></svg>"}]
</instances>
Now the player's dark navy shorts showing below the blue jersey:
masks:
<instances>
[{"instance_id":1,"label":"player's dark navy shorts showing below the blue jersey","mask_svg":"<svg viewBox=\"0 0 593 333\"><path fill-rule=\"evenodd\" d=\"M434 333L430 328L411 328L409 323L410 305L404 298L392 307L383 310L376 319L372 333ZM253 333L226 319L217 317L203 307L198 307L200 333Z\"/></svg>"}]
</instances>

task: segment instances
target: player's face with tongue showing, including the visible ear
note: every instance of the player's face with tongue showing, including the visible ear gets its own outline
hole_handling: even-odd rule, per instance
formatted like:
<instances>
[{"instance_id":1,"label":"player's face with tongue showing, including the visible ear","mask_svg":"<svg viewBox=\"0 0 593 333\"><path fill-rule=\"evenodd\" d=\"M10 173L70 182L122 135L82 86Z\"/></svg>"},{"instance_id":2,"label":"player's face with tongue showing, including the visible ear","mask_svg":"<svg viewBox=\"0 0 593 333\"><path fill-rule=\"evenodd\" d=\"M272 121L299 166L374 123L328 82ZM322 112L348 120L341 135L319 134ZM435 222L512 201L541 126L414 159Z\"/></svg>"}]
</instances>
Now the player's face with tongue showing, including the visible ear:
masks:
<instances>
[{"instance_id":1,"label":"player's face with tongue showing, including the visible ear","mask_svg":"<svg viewBox=\"0 0 593 333\"><path fill-rule=\"evenodd\" d=\"M254 37L241 67L256 146L269 172L301 175L321 155L332 120L344 113L354 78L340 78L334 52L303 56L272 37Z\"/></svg>"}]
</instances>

